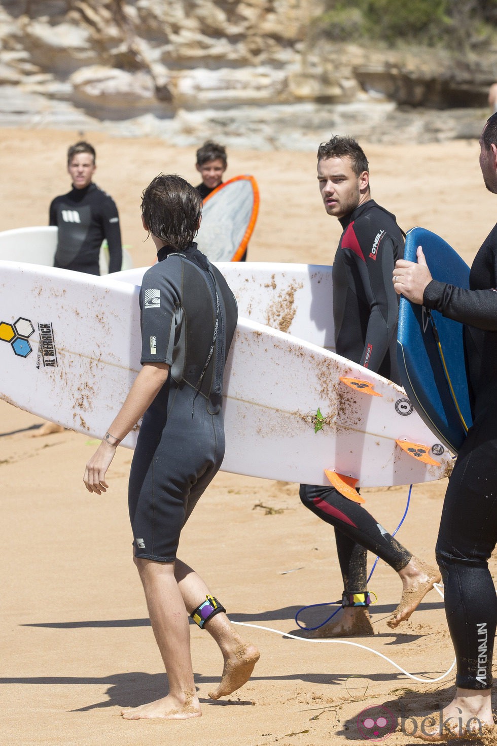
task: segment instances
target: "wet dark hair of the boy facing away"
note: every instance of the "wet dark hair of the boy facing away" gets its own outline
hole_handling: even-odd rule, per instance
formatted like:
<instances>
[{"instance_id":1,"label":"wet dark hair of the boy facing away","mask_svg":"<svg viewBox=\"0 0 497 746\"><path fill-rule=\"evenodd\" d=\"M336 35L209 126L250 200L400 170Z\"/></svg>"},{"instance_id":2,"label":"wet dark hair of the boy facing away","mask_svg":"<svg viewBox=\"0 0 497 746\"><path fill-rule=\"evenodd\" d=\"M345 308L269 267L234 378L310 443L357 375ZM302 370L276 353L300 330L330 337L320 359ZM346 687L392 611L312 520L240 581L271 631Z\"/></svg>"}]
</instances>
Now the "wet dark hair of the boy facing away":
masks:
<instances>
[{"instance_id":1,"label":"wet dark hair of the boy facing away","mask_svg":"<svg viewBox=\"0 0 497 746\"><path fill-rule=\"evenodd\" d=\"M174 251L184 251L193 241L201 212L197 189L175 174L159 174L142 194L148 231Z\"/></svg>"}]
</instances>

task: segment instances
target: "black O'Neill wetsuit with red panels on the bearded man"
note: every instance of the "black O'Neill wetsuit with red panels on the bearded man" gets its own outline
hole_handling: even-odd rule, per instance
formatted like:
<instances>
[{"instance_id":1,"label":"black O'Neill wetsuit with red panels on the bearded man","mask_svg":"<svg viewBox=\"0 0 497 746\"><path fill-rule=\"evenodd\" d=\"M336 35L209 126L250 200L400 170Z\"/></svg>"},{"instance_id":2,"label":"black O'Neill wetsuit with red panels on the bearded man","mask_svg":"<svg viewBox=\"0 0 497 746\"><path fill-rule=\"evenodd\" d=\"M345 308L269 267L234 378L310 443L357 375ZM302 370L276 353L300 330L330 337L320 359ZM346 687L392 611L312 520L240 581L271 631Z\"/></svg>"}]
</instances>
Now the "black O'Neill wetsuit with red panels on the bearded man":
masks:
<instances>
[{"instance_id":1,"label":"black O'Neill wetsuit with red panels on the bearded man","mask_svg":"<svg viewBox=\"0 0 497 746\"><path fill-rule=\"evenodd\" d=\"M339 355L398 381L396 330L399 299L392 271L404 254L395 216L369 200L340 219L344 229L333 263L335 345ZM408 552L367 510L333 487L303 484L303 504L335 527L344 594L367 590L367 550L397 572Z\"/></svg>"}]
</instances>

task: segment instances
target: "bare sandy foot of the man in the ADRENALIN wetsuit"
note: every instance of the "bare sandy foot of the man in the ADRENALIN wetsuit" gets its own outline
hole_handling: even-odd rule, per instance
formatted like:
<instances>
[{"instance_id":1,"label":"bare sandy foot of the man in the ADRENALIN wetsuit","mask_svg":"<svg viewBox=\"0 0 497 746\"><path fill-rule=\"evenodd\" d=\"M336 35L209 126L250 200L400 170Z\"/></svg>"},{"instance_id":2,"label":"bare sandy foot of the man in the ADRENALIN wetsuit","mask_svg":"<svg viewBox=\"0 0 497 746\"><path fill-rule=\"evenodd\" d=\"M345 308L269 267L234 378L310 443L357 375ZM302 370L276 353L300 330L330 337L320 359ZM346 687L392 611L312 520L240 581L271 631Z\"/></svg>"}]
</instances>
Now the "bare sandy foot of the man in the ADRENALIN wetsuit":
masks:
<instances>
[{"instance_id":1,"label":"bare sandy foot of the man in the ADRENALIN wetsuit","mask_svg":"<svg viewBox=\"0 0 497 746\"><path fill-rule=\"evenodd\" d=\"M440 715L434 715L433 727L425 724L413 733L418 739L431 743L444 742L448 739L468 739L490 735L494 730L492 715L491 689L460 689L455 693L452 702L443 709L442 722Z\"/></svg>"}]
</instances>

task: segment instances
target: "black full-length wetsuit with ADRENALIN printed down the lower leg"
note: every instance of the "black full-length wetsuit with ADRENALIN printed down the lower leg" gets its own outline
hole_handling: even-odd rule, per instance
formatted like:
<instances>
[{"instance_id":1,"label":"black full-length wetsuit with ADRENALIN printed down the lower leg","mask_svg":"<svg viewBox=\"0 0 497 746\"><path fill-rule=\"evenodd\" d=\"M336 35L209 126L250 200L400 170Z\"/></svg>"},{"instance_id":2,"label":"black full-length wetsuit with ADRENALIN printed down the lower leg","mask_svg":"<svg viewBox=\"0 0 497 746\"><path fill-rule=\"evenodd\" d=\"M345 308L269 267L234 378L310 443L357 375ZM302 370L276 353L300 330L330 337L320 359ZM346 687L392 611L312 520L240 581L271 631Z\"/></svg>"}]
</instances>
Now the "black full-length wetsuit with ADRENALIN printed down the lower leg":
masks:
<instances>
[{"instance_id":1,"label":"black full-length wetsuit with ADRENALIN printed down the lower leg","mask_svg":"<svg viewBox=\"0 0 497 746\"><path fill-rule=\"evenodd\" d=\"M456 685L492 686L497 598L488 560L497 542L497 226L472 263L469 290L432 280L423 303L465 324L473 424L449 479L437 540Z\"/></svg>"}]
</instances>

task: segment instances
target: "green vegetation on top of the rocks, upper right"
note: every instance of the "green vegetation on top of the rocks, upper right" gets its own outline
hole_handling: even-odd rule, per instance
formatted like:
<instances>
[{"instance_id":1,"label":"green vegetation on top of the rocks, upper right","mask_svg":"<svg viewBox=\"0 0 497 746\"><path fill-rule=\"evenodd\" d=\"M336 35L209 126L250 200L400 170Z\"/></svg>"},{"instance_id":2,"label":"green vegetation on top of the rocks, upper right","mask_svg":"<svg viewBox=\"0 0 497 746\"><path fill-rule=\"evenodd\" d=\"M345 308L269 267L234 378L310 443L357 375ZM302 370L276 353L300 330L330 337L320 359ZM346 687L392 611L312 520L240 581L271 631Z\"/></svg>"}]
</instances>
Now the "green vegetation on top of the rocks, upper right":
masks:
<instances>
[{"instance_id":1,"label":"green vegetation on top of the rocks, upper right","mask_svg":"<svg viewBox=\"0 0 497 746\"><path fill-rule=\"evenodd\" d=\"M475 48L496 42L497 0L326 0L314 33L335 41Z\"/></svg>"}]
</instances>

